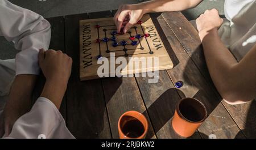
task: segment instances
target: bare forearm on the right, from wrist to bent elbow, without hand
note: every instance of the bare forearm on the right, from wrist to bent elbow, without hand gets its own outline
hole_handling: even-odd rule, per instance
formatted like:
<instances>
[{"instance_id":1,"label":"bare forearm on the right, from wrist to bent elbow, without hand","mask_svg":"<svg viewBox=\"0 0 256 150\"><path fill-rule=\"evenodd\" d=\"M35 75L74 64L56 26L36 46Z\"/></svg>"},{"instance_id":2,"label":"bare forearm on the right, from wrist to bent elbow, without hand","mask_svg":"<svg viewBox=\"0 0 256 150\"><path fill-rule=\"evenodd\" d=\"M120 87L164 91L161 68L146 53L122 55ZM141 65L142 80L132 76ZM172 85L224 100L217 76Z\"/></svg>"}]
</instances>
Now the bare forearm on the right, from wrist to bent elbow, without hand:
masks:
<instances>
[{"instance_id":1,"label":"bare forearm on the right, from wrist to bent elbow, without hand","mask_svg":"<svg viewBox=\"0 0 256 150\"><path fill-rule=\"evenodd\" d=\"M236 69L238 62L221 41L217 29L209 31L202 44L208 70L218 92L228 101L239 100L243 89Z\"/></svg>"}]
</instances>

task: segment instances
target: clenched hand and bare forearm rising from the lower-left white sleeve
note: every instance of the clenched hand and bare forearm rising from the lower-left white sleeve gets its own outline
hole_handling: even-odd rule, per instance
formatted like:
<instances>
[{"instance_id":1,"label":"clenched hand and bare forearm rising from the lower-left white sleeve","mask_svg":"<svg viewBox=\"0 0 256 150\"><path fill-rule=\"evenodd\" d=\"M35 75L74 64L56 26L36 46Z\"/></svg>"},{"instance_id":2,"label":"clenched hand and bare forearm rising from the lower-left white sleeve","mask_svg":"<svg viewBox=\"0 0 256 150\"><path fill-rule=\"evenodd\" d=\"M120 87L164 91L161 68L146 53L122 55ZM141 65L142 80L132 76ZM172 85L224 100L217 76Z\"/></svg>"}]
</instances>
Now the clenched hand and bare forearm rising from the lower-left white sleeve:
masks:
<instances>
[{"instance_id":1,"label":"clenched hand and bare forearm rising from the lower-left white sleeve","mask_svg":"<svg viewBox=\"0 0 256 150\"><path fill-rule=\"evenodd\" d=\"M48 98L57 109L60 109L71 75L72 58L60 50L47 50L45 52L41 49L39 51L39 66L46 77L41 97Z\"/></svg>"}]
</instances>

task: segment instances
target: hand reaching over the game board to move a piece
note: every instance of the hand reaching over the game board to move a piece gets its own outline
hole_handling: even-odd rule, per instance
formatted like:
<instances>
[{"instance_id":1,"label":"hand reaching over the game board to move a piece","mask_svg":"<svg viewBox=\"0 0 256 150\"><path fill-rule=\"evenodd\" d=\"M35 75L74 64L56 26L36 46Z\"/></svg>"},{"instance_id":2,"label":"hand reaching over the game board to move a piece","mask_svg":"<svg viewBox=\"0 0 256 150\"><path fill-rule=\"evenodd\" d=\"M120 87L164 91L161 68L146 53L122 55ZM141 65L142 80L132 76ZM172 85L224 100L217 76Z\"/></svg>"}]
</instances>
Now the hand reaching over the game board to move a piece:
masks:
<instances>
[{"instance_id":1,"label":"hand reaching over the game board to move a piece","mask_svg":"<svg viewBox=\"0 0 256 150\"><path fill-rule=\"evenodd\" d=\"M139 5L121 5L113 18L117 31L126 33L145 13Z\"/></svg>"}]
</instances>

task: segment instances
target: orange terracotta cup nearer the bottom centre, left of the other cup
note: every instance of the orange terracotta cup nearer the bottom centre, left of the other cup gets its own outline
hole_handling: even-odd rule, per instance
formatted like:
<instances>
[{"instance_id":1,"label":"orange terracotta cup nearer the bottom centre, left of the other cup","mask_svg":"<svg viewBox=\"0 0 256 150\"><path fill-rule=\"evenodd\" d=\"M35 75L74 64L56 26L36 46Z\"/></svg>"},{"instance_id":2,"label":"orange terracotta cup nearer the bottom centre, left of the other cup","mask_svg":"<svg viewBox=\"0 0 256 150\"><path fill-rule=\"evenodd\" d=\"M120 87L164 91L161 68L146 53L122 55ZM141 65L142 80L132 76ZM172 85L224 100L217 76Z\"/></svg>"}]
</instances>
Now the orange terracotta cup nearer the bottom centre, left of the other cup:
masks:
<instances>
[{"instance_id":1,"label":"orange terracotta cup nearer the bottom centre, left of the other cup","mask_svg":"<svg viewBox=\"0 0 256 150\"><path fill-rule=\"evenodd\" d=\"M147 130L147 119L139 112L129 111L119 118L118 132L120 139L144 139Z\"/></svg>"}]
</instances>

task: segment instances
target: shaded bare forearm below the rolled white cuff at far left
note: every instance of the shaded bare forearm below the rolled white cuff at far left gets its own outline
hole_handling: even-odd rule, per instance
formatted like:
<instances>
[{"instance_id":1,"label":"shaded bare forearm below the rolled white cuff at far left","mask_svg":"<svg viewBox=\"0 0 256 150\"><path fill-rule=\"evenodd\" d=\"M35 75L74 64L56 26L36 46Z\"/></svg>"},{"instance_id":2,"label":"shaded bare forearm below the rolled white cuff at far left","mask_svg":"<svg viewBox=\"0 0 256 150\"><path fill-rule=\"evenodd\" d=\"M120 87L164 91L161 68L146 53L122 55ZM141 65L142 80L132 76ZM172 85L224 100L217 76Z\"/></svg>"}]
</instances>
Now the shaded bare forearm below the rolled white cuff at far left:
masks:
<instances>
[{"instance_id":1,"label":"shaded bare forearm below the rolled white cuff at far left","mask_svg":"<svg viewBox=\"0 0 256 150\"><path fill-rule=\"evenodd\" d=\"M31 108L31 96L36 75L17 75L5 106L5 132L9 134L14 122Z\"/></svg>"}]
</instances>

